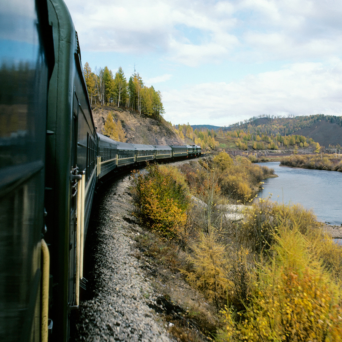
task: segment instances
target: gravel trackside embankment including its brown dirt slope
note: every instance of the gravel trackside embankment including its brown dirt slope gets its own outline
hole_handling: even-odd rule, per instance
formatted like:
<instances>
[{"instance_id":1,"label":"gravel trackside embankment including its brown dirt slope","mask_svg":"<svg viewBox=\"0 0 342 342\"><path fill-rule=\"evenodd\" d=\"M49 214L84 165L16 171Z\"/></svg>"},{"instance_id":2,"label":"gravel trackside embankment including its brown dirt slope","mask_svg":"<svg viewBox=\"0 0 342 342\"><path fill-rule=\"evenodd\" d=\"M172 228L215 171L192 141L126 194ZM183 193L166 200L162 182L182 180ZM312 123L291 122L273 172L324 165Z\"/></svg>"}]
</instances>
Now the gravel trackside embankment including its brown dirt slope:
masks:
<instances>
[{"instance_id":1,"label":"gravel trackside embankment including its brown dirt slope","mask_svg":"<svg viewBox=\"0 0 342 342\"><path fill-rule=\"evenodd\" d=\"M174 342L179 322L191 340L207 341L189 310L200 316L211 305L142 246L150 233L132 216L130 186L130 176L117 181L94 212L87 237L88 297L80 303L74 340Z\"/></svg>"}]
</instances>

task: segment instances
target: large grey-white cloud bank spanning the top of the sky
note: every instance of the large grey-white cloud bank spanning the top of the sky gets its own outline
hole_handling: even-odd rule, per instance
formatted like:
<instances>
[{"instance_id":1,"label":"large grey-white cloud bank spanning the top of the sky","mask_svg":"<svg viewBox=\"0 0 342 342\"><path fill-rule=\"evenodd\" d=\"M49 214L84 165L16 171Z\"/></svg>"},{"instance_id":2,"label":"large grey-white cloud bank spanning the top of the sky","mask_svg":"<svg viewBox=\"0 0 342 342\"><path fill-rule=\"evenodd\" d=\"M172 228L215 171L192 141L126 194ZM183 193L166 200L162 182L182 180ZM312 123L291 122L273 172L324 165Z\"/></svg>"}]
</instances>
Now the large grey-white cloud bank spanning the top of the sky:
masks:
<instances>
[{"instance_id":1,"label":"large grey-white cloud bank spanning the top of the sky","mask_svg":"<svg viewBox=\"0 0 342 342\"><path fill-rule=\"evenodd\" d=\"M212 58L315 58L339 55L342 48L342 10L332 0L66 2L87 50L158 52L197 65ZM192 29L199 42L192 40Z\"/></svg>"}]
</instances>

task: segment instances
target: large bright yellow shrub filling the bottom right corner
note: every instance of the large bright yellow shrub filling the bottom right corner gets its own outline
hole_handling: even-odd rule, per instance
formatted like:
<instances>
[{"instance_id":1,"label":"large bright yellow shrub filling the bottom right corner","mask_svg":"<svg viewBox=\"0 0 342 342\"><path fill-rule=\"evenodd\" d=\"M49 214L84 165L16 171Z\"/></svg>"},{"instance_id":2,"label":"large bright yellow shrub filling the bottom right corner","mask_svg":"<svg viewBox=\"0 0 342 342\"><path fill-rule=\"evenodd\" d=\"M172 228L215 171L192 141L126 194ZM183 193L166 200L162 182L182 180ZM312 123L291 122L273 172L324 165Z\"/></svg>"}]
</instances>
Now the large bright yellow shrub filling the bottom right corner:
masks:
<instances>
[{"instance_id":1,"label":"large bright yellow shrub filling the bottom right corner","mask_svg":"<svg viewBox=\"0 0 342 342\"><path fill-rule=\"evenodd\" d=\"M327 272L312 240L297 227L279 227L270 250L251 277L250 301L222 311L220 341L341 341L341 280Z\"/></svg>"}]
</instances>

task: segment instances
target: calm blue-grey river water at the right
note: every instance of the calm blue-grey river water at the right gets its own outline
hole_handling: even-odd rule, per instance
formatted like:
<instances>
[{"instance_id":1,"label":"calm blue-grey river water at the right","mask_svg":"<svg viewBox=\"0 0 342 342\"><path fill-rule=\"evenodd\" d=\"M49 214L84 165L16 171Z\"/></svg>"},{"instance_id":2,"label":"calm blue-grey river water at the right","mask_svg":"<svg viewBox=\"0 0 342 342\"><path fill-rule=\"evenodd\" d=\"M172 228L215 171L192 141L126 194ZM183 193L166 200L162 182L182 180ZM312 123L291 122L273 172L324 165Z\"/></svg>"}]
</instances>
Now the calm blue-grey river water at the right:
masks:
<instances>
[{"instance_id":1,"label":"calm blue-grey river water at the right","mask_svg":"<svg viewBox=\"0 0 342 342\"><path fill-rule=\"evenodd\" d=\"M276 178L265 180L259 197L271 196L284 204L300 203L312 209L321 222L342 223L342 172L279 166L279 162L258 163L274 169Z\"/></svg>"}]
</instances>

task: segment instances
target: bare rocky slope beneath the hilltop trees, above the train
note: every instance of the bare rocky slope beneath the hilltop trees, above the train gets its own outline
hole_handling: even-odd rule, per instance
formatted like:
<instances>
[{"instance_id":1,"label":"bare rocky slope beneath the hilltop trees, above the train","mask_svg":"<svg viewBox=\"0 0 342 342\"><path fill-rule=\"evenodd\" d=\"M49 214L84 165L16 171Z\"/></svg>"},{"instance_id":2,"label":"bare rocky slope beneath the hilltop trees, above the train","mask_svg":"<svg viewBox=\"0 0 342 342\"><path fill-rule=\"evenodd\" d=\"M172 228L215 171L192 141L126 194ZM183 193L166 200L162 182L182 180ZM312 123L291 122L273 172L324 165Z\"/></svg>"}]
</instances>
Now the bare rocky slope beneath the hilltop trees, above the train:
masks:
<instances>
[{"instance_id":1,"label":"bare rocky slope beneath the hilltop trees, above the train","mask_svg":"<svg viewBox=\"0 0 342 342\"><path fill-rule=\"evenodd\" d=\"M184 141L173 131L170 123L140 115L135 111L105 106L93 109L93 119L98 133L103 134L104 124L109 113L120 120L126 132L128 143L148 145L184 145Z\"/></svg>"}]
</instances>

